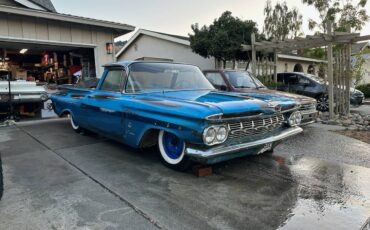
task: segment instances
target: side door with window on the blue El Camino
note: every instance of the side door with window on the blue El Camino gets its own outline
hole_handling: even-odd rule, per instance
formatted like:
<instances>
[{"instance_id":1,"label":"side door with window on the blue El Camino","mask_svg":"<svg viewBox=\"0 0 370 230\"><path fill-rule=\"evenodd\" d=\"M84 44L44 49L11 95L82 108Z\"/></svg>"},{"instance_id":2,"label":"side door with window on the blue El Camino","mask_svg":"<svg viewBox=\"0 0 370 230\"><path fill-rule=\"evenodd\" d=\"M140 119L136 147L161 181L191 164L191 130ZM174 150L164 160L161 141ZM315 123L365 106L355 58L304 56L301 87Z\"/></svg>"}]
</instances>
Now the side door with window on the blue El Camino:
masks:
<instances>
[{"instance_id":1,"label":"side door with window on the blue El Camino","mask_svg":"<svg viewBox=\"0 0 370 230\"><path fill-rule=\"evenodd\" d=\"M123 135L123 83L126 73L122 68L110 68L104 73L102 82L83 102L88 114L89 127L107 136Z\"/></svg>"}]
</instances>

